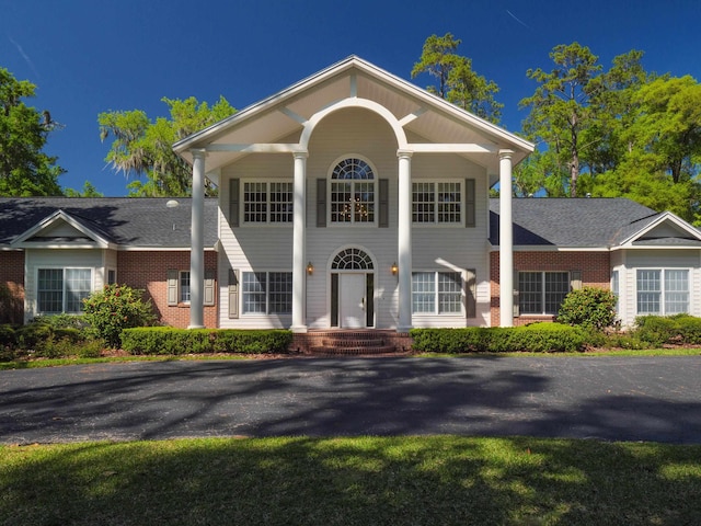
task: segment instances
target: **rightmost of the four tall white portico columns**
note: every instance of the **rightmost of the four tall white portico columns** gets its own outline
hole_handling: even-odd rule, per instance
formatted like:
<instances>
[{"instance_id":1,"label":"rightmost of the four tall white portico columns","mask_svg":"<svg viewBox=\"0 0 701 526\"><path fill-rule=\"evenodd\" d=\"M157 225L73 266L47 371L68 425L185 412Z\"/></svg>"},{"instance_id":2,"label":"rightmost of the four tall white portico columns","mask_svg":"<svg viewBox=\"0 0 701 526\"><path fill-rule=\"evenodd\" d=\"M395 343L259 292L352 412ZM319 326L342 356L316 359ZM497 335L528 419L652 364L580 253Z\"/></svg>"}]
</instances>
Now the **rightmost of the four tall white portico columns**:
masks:
<instances>
[{"instance_id":1,"label":"rightmost of the four tall white portico columns","mask_svg":"<svg viewBox=\"0 0 701 526\"><path fill-rule=\"evenodd\" d=\"M499 150L499 327L514 325L512 150Z\"/></svg>"}]
</instances>

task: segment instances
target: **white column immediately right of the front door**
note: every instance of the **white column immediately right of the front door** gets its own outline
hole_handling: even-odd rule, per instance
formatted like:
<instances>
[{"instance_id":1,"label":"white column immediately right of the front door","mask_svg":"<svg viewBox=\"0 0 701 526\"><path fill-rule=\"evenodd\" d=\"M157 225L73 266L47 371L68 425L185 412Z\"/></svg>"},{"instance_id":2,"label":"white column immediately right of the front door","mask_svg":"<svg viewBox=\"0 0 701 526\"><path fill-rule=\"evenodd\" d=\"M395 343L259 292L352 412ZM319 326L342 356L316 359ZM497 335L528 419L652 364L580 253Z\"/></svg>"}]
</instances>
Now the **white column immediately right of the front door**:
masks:
<instances>
[{"instance_id":1,"label":"white column immediately right of the front door","mask_svg":"<svg viewBox=\"0 0 701 526\"><path fill-rule=\"evenodd\" d=\"M412 328L412 152L399 150L399 324L397 332Z\"/></svg>"}]
</instances>

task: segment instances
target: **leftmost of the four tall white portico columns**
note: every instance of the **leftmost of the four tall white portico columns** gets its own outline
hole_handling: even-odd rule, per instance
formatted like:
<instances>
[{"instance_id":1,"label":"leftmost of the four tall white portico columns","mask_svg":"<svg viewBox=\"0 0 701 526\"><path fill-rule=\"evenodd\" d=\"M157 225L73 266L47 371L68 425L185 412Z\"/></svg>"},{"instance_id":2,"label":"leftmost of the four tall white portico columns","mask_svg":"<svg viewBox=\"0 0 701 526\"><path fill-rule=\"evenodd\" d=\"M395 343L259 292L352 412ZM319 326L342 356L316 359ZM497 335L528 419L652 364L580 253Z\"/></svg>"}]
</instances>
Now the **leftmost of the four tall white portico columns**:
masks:
<instances>
[{"instance_id":1,"label":"leftmost of the four tall white portico columns","mask_svg":"<svg viewBox=\"0 0 701 526\"><path fill-rule=\"evenodd\" d=\"M205 327L205 150L192 150L193 198L189 241L189 325Z\"/></svg>"}]
</instances>

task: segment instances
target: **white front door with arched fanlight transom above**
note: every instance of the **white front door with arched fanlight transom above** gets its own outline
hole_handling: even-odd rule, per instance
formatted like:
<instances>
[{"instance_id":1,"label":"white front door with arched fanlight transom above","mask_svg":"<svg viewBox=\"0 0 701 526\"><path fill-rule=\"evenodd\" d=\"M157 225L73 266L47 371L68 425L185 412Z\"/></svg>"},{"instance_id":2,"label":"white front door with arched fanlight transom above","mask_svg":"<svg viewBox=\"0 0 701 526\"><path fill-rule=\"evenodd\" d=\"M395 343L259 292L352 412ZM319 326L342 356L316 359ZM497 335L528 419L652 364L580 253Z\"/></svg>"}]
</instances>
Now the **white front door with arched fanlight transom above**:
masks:
<instances>
[{"instance_id":1,"label":"white front door with arched fanlight transom above","mask_svg":"<svg viewBox=\"0 0 701 526\"><path fill-rule=\"evenodd\" d=\"M375 325L375 266L361 249L340 251L331 264L331 325Z\"/></svg>"}]
</instances>

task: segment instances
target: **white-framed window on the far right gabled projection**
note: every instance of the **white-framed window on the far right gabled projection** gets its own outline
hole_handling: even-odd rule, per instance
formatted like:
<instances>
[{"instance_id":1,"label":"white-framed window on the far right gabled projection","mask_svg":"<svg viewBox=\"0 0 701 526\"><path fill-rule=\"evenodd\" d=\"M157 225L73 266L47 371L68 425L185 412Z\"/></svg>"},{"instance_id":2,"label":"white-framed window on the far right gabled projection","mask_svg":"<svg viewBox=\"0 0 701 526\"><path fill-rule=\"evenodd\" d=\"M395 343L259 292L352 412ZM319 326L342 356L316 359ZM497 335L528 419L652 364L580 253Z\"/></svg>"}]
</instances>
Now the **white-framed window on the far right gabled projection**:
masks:
<instances>
[{"instance_id":1,"label":"white-framed window on the far right gabled projection","mask_svg":"<svg viewBox=\"0 0 701 526\"><path fill-rule=\"evenodd\" d=\"M677 315L689 311L688 270L639 270L637 313Z\"/></svg>"}]
</instances>

